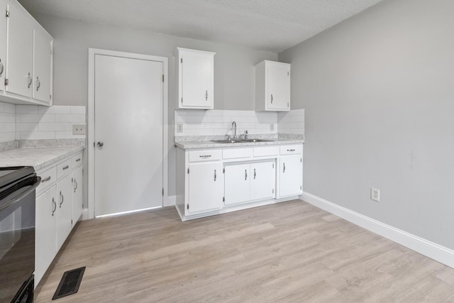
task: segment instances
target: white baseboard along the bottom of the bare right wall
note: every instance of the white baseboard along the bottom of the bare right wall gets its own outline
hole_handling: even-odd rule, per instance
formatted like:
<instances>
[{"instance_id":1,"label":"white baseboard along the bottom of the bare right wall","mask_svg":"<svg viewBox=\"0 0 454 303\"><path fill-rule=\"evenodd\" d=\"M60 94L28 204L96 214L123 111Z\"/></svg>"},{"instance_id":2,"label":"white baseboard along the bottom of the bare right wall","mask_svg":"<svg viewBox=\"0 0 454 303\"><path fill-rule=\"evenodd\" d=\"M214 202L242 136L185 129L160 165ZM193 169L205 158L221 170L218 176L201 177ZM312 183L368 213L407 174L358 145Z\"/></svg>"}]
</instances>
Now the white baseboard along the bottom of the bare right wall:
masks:
<instances>
[{"instance_id":1,"label":"white baseboard along the bottom of the bare right wall","mask_svg":"<svg viewBox=\"0 0 454 303\"><path fill-rule=\"evenodd\" d=\"M421 253L421 255L426 255L428 258L448 265L450 268L454 268L454 250L445 248L444 246L438 245L424 238L420 238L419 236L414 236L411 233L389 226L380 221L369 218L368 216L358 214L355 211L338 206L333 202L316 197L314 194L309 194L308 192L303 192L301 200L328 211L331 214L335 214L336 216L361 226L362 228L366 228L373 233L377 233L384 238L399 243L406 248L410 248L411 250Z\"/></svg>"}]
</instances>

